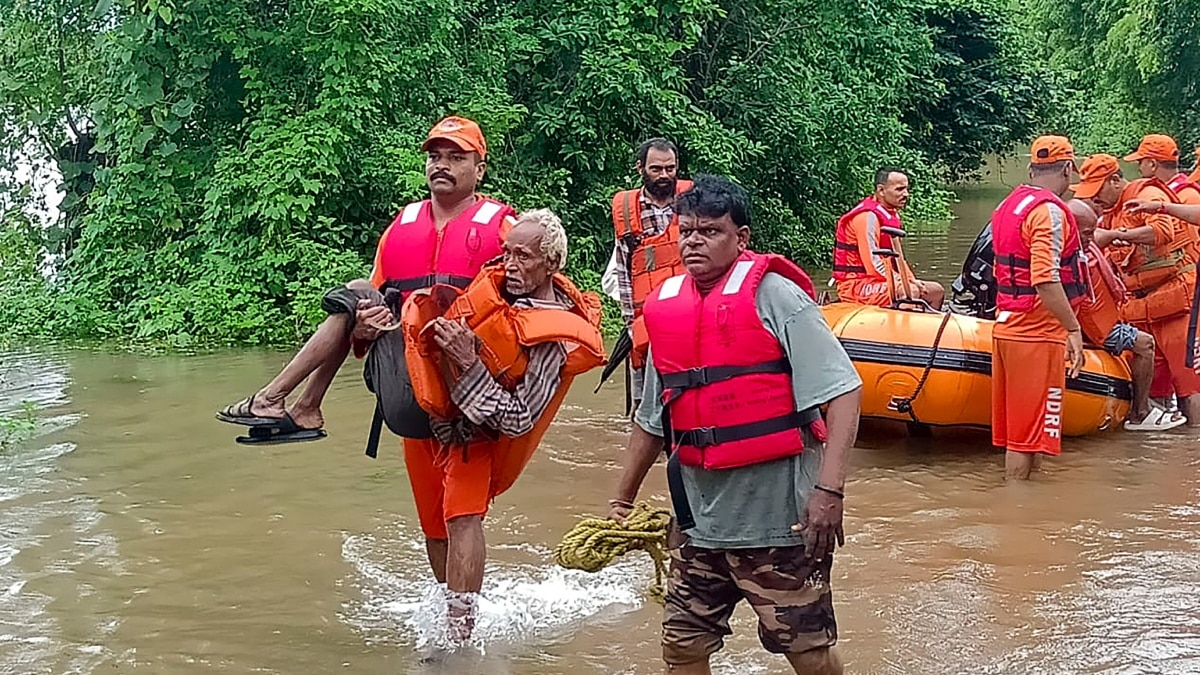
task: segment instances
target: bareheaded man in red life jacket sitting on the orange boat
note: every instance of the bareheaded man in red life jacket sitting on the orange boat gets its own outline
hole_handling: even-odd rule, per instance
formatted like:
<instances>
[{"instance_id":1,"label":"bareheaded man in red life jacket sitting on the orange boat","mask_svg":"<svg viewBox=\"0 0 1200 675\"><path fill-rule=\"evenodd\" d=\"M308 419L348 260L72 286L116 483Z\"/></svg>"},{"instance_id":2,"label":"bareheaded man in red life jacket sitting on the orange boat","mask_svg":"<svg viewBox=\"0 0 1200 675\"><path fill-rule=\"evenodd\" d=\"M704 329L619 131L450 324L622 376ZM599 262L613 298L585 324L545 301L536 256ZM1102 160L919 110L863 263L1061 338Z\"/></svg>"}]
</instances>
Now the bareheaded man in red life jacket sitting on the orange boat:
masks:
<instances>
[{"instance_id":1,"label":"bareheaded man in red life jacket sitting on the orange boat","mask_svg":"<svg viewBox=\"0 0 1200 675\"><path fill-rule=\"evenodd\" d=\"M892 303L888 294L888 263L874 251L892 247L892 237L880 228L902 229L900 210L907 204L908 175L898 168L882 168L875 173L875 195L838 219L833 245L833 280L838 285L839 300L880 306ZM946 289L940 283L918 280L907 264L900 264L900 274L908 280L916 298L935 309L942 307ZM899 277L896 282L900 288Z\"/></svg>"}]
</instances>

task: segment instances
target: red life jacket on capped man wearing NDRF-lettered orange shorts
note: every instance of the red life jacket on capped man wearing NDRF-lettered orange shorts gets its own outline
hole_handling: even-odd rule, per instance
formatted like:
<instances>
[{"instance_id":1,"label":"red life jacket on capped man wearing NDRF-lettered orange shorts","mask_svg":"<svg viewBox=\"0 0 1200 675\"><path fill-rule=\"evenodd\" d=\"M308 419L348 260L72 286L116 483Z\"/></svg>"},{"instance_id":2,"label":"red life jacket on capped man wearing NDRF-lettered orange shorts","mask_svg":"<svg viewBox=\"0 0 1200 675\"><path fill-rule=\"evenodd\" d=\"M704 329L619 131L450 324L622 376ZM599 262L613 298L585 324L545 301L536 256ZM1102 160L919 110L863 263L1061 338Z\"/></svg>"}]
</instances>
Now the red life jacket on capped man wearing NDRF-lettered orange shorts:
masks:
<instances>
[{"instance_id":1,"label":"red life jacket on capped man wearing NDRF-lettered orange shorts","mask_svg":"<svg viewBox=\"0 0 1200 675\"><path fill-rule=\"evenodd\" d=\"M1075 215L1054 192L1032 185L1018 185L991 215L998 310L1027 312L1033 309L1038 292L1030 274L1030 247L1021 239L1021 223L1025 222L1025 216L1046 202L1058 207L1063 214L1058 279L1067 292L1067 299L1073 307L1078 307L1087 295L1087 269L1079 255Z\"/></svg>"}]
</instances>

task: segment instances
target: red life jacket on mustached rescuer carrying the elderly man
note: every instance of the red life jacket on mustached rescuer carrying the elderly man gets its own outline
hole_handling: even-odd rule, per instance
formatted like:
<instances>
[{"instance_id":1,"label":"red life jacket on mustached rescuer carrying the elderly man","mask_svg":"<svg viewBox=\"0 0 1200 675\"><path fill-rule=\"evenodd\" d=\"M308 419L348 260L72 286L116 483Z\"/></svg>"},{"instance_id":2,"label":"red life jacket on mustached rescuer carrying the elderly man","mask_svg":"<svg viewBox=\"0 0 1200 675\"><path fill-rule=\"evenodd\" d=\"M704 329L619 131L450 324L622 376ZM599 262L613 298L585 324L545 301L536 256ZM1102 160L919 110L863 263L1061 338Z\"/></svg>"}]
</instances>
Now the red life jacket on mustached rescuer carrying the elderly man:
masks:
<instances>
[{"instance_id":1,"label":"red life jacket on mustached rescuer carrying the elderly man","mask_svg":"<svg viewBox=\"0 0 1200 675\"><path fill-rule=\"evenodd\" d=\"M383 288L397 288L404 298L434 283L466 288L503 252L504 221L514 213L508 204L480 196L438 233L430 201L413 202L384 231L376 275Z\"/></svg>"}]
</instances>

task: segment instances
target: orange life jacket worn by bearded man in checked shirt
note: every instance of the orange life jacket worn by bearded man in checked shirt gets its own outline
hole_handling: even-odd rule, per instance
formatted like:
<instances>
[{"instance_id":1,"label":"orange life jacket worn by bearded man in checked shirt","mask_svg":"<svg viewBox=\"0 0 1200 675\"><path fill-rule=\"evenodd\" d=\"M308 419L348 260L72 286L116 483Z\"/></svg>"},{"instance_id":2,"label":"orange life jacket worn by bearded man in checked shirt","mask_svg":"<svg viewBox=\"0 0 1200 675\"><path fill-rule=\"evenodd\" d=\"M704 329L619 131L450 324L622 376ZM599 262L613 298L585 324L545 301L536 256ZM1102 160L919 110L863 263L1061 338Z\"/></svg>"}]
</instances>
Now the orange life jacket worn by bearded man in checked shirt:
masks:
<instances>
[{"instance_id":1,"label":"orange life jacket worn by bearded man in checked shirt","mask_svg":"<svg viewBox=\"0 0 1200 675\"><path fill-rule=\"evenodd\" d=\"M690 180L676 180L676 196L691 190L691 186ZM642 189L638 187L617 192L612 198L612 227L617 239L623 240L629 251L629 279L634 287L634 325L630 328L634 350L629 363L638 369L646 365L646 351L649 348L642 305L655 286L685 271L679 257L679 216L672 216L671 225L659 234L644 235L641 196Z\"/></svg>"}]
</instances>

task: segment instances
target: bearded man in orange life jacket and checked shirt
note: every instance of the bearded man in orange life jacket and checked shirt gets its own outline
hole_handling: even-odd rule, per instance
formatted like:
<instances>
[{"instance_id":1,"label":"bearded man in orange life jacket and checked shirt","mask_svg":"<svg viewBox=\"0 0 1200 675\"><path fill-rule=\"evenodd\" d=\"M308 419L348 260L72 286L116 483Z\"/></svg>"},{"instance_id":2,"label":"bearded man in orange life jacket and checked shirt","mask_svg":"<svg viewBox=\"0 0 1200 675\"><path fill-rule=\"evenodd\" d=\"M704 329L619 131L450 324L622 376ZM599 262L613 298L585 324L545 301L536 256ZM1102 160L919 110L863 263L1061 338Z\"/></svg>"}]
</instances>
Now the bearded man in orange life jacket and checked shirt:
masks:
<instances>
[{"instance_id":1,"label":"bearded man in orange life jacket and checked shirt","mask_svg":"<svg viewBox=\"0 0 1200 675\"><path fill-rule=\"evenodd\" d=\"M683 274L674 199L691 187L691 181L676 177L679 150L666 138L650 138L638 145L635 168L642 177L642 186L617 192L612 198L616 240L605 285L616 286L620 317L634 340L629 377L632 408L637 410L647 347L642 305L650 289Z\"/></svg>"}]
</instances>

